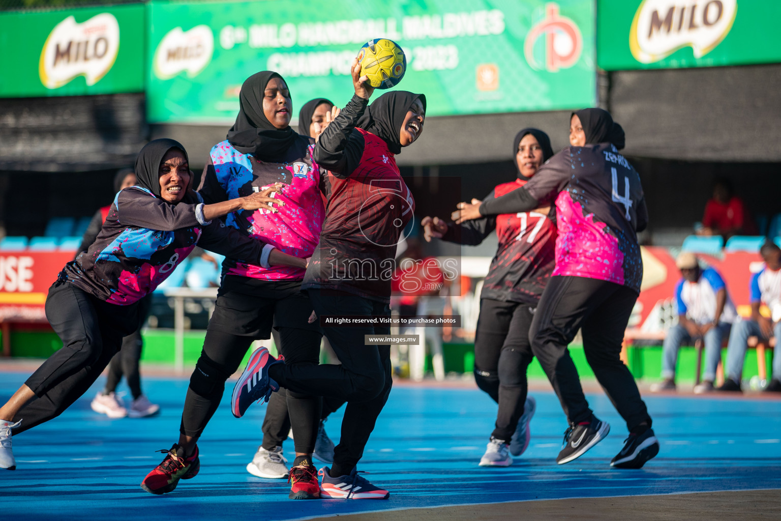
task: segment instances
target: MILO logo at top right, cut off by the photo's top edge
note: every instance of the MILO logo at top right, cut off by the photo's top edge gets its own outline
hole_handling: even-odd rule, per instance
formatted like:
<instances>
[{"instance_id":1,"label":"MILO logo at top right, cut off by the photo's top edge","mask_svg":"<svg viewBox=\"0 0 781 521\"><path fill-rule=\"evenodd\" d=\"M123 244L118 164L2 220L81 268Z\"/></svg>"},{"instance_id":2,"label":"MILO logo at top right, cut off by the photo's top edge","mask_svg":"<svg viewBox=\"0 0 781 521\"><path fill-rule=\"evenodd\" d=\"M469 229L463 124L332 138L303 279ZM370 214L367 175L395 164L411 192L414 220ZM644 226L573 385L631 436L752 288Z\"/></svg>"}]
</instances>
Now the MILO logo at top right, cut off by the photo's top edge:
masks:
<instances>
[{"instance_id":1,"label":"MILO logo at top right, cut off by the photo's top edge","mask_svg":"<svg viewBox=\"0 0 781 521\"><path fill-rule=\"evenodd\" d=\"M658 62L679 48L702 58L729 34L737 0L644 0L629 30L629 48L638 62Z\"/></svg>"}]
</instances>

